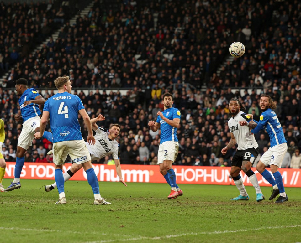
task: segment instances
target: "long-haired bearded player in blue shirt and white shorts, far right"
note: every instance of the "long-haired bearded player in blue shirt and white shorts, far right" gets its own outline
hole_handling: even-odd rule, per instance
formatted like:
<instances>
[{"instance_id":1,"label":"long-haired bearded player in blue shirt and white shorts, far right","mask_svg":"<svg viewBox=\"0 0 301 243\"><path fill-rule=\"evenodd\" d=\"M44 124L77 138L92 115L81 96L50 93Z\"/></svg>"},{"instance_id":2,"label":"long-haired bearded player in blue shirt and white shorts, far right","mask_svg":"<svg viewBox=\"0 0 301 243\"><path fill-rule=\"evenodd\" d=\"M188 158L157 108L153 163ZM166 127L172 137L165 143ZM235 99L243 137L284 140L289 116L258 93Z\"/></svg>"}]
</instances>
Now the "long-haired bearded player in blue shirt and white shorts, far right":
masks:
<instances>
[{"instance_id":1,"label":"long-haired bearded player in blue shirt and white shorts, far right","mask_svg":"<svg viewBox=\"0 0 301 243\"><path fill-rule=\"evenodd\" d=\"M282 176L278 168L281 168L284 155L288 150L288 145L277 115L272 111L272 109L276 109L276 103L272 101L270 96L262 95L260 97L259 106L262 111L259 121L244 121L241 122L240 125L252 128L251 132L253 133L258 133L261 129L267 130L271 140L271 147L261 156L256 169L273 187L272 195L269 200L274 199L280 193L276 203L283 203L288 201L288 195L285 193ZM271 167L275 179L266 170L267 166Z\"/></svg>"}]
</instances>

